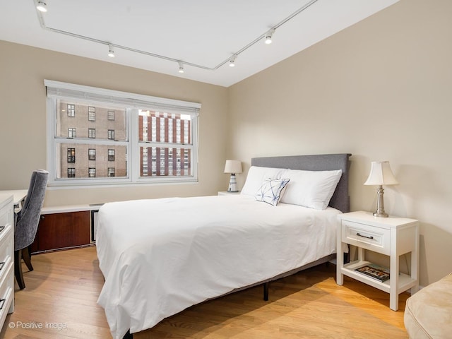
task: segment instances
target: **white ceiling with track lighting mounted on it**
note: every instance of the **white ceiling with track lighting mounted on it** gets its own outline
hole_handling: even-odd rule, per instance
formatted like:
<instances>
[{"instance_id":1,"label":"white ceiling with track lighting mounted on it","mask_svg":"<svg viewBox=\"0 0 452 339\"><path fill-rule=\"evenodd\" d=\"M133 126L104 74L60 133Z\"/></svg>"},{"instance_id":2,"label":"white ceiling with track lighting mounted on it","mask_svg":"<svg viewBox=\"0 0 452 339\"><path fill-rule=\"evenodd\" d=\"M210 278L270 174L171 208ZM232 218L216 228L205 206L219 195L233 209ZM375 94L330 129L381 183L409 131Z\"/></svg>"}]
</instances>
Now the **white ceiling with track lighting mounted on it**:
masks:
<instances>
[{"instance_id":1,"label":"white ceiling with track lighting mounted on it","mask_svg":"<svg viewBox=\"0 0 452 339\"><path fill-rule=\"evenodd\" d=\"M35 1L2 1L0 40L228 87L398 0Z\"/></svg>"}]
</instances>

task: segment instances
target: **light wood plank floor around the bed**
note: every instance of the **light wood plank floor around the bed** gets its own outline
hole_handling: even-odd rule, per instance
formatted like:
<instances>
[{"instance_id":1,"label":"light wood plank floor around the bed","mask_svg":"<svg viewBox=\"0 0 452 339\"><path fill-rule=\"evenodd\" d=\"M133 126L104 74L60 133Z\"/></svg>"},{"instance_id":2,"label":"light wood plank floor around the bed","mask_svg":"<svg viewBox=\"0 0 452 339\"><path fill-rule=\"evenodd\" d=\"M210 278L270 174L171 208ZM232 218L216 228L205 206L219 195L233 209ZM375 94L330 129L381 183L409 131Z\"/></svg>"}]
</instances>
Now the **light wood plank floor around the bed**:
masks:
<instances>
[{"instance_id":1,"label":"light wood plank floor around the bed","mask_svg":"<svg viewBox=\"0 0 452 339\"><path fill-rule=\"evenodd\" d=\"M32 257L25 290L0 338L112 338L96 304L103 277L95 247ZM389 295L345 277L335 284L335 266L322 265L270 285L270 300L253 287L196 305L134 338L408 338L403 310L388 308Z\"/></svg>"}]
</instances>

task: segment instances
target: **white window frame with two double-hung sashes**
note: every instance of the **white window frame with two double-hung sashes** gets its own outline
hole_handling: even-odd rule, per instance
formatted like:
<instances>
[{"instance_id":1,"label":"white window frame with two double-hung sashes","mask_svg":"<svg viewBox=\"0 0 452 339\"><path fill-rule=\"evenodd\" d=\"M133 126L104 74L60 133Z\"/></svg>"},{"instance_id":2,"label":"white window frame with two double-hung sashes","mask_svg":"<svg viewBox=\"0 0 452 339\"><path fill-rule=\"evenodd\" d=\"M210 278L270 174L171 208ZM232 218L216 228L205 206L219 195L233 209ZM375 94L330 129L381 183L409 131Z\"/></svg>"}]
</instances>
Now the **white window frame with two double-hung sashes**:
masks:
<instances>
[{"instance_id":1,"label":"white window frame with two double-hung sashes","mask_svg":"<svg viewBox=\"0 0 452 339\"><path fill-rule=\"evenodd\" d=\"M162 97L94 88L59 81L44 80L47 88L47 170L50 188L81 188L83 186L130 186L176 182L198 182L198 117L201 104ZM57 137L57 99L74 100L87 105L114 105L126 109L126 141L111 141L90 138L69 139ZM190 176L140 177L140 146L138 141L138 111L150 109L158 112L189 114L191 116L191 145L177 145L191 149ZM128 177L105 178L57 178L57 145L59 143L89 143L90 145L125 145L127 147ZM172 144L168 144L171 146Z\"/></svg>"}]
</instances>

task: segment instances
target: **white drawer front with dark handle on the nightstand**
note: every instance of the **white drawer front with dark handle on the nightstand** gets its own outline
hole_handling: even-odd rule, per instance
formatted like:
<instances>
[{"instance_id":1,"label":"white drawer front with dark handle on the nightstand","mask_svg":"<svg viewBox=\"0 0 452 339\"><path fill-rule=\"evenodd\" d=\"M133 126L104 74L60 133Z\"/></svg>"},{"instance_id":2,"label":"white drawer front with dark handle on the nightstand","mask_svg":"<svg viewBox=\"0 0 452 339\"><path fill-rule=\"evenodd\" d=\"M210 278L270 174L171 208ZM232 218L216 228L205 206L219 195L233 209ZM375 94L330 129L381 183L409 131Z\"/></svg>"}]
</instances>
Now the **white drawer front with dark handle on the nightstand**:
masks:
<instances>
[{"instance_id":1,"label":"white drawer front with dark handle on the nightstand","mask_svg":"<svg viewBox=\"0 0 452 339\"><path fill-rule=\"evenodd\" d=\"M390 253L390 230L342 220L342 241L381 254Z\"/></svg>"}]
</instances>

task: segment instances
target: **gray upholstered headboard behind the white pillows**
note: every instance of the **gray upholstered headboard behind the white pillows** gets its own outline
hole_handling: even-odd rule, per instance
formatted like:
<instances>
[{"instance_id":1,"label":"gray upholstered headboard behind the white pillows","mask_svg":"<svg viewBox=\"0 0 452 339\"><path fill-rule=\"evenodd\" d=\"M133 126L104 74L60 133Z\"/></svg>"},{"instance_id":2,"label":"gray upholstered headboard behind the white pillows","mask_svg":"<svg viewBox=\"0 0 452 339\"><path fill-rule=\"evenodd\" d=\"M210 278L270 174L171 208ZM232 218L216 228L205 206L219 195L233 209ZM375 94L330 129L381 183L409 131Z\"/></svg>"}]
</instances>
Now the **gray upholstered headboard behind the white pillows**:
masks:
<instances>
[{"instance_id":1,"label":"gray upholstered headboard behind the white pillows","mask_svg":"<svg viewBox=\"0 0 452 339\"><path fill-rule=\"evenodd\" d=\"M351 154L290 155L282 157L254 157L251 166L304 169L306 171L331 171L342 169L338 186L331 198L329 206L343 213L350 212L350 196L348 195L348 169Z\"/></svg>"}]
</instances>

